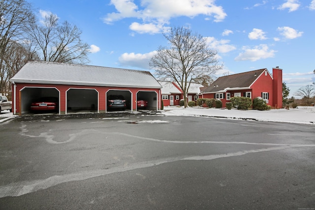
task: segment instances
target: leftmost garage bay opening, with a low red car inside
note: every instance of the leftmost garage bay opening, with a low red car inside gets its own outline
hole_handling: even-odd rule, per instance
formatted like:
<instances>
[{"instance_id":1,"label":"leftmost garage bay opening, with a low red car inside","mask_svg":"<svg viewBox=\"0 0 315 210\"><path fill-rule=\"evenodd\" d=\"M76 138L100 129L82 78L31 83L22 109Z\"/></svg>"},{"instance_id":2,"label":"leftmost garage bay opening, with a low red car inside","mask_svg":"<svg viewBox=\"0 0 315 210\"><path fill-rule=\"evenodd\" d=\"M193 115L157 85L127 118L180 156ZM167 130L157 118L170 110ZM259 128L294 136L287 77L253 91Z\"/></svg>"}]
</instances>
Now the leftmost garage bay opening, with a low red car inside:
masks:
<instances>
[{"instance_id":1,"label":"leftmost garage bay opening, with a low red car inside","mask_svg":"<svg viewBox=\"0 0 315 210\"><path fill-rule=\"evenodd\" d=\"M48 102L55 101L56 106L49 107ZM21 90L21 114L32 113L59 113L60 110L60 92L56 88L37 88L26 87ZM38 107L31 105L34 102L39 102Z\"/></svg>"}]
</instances>

